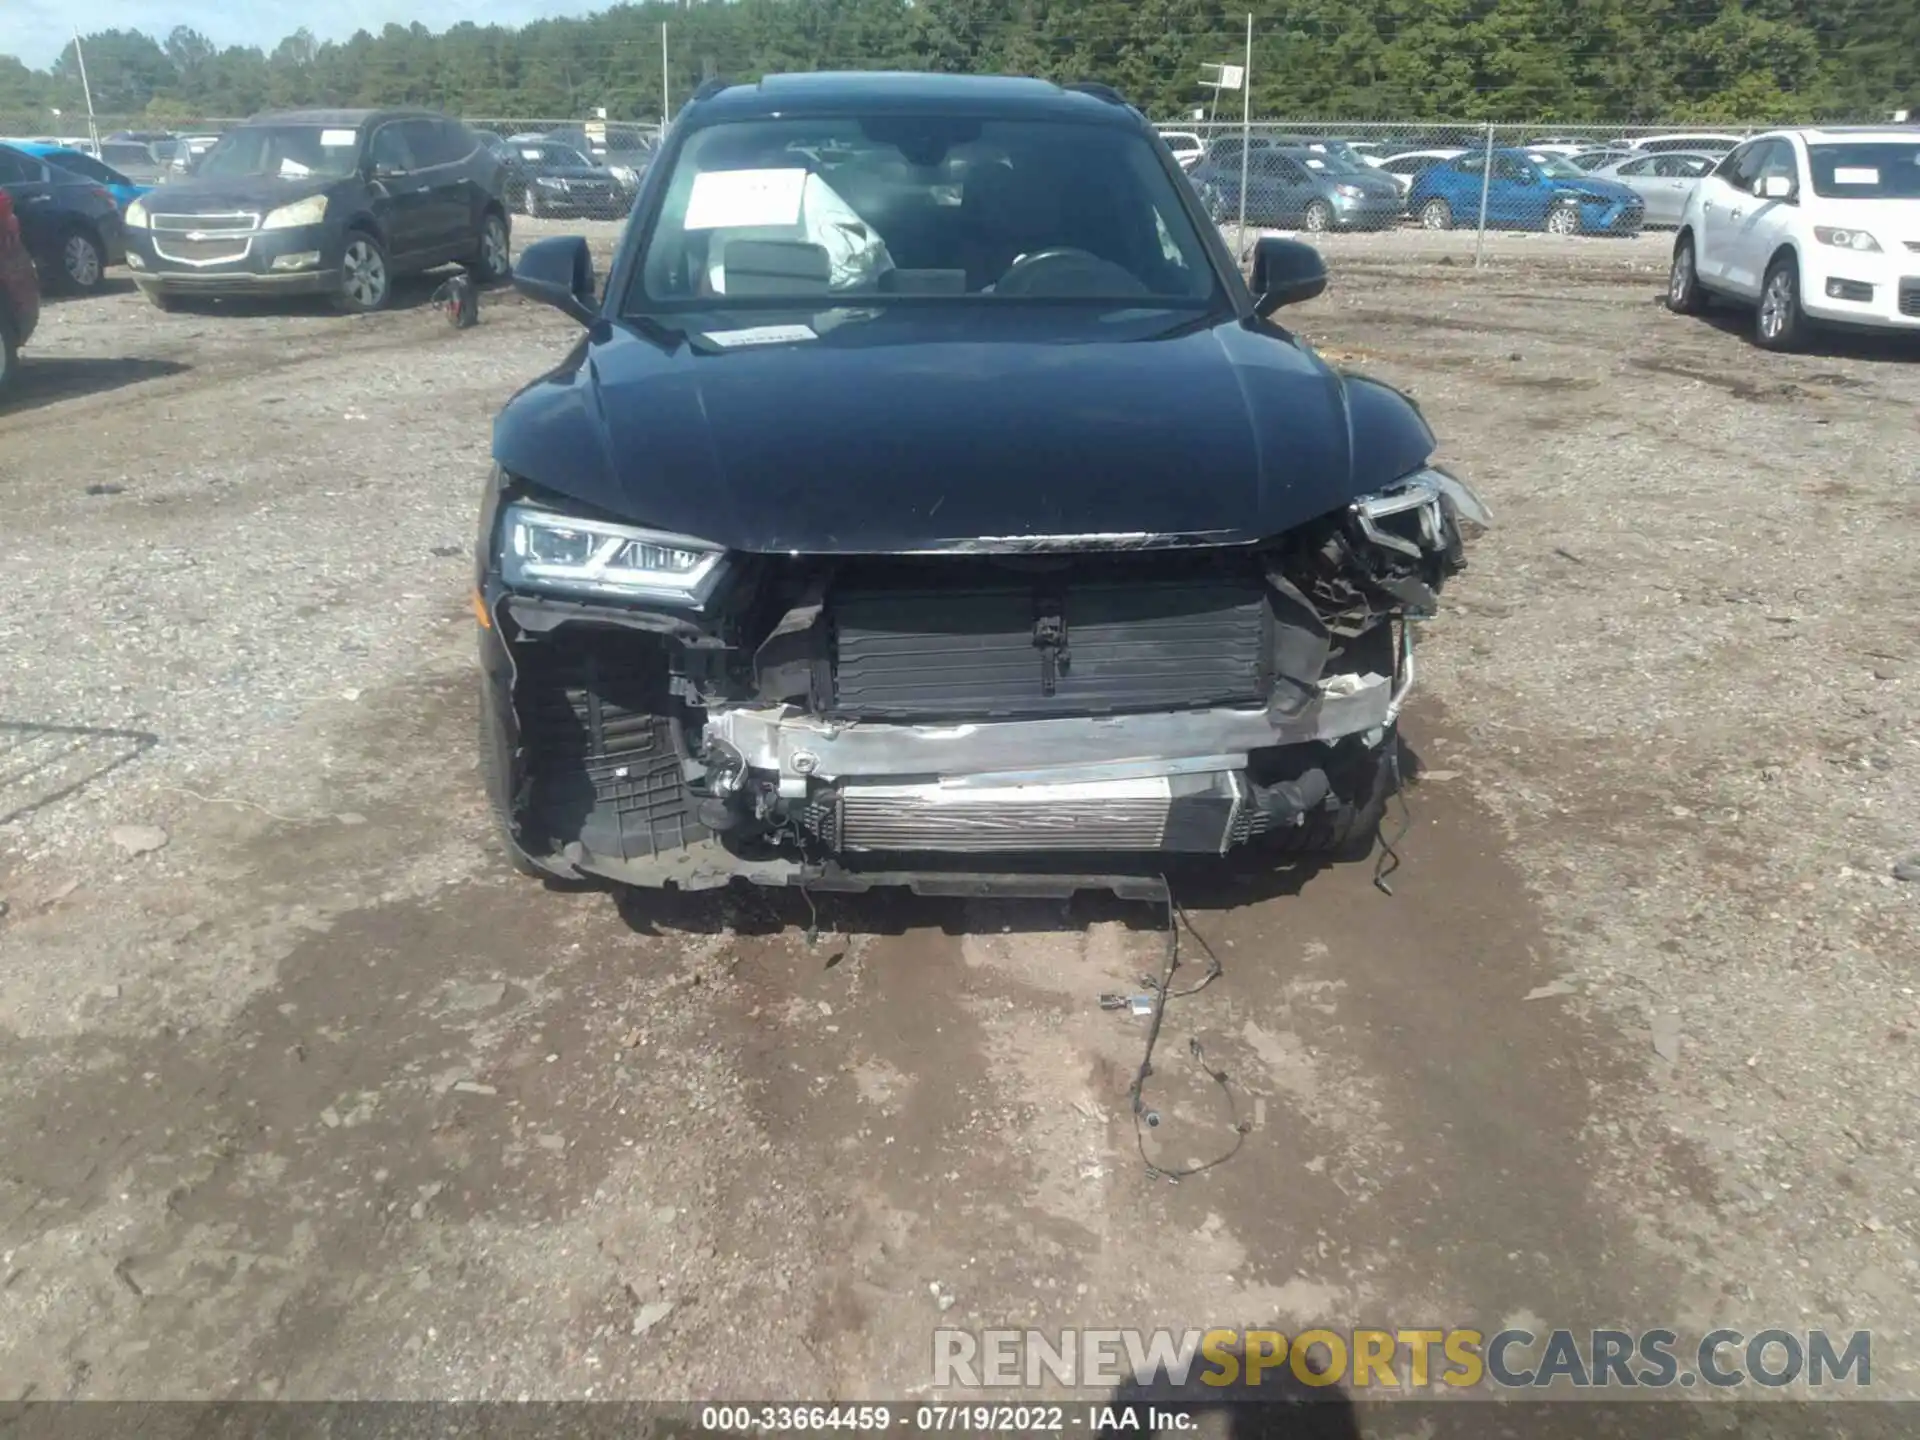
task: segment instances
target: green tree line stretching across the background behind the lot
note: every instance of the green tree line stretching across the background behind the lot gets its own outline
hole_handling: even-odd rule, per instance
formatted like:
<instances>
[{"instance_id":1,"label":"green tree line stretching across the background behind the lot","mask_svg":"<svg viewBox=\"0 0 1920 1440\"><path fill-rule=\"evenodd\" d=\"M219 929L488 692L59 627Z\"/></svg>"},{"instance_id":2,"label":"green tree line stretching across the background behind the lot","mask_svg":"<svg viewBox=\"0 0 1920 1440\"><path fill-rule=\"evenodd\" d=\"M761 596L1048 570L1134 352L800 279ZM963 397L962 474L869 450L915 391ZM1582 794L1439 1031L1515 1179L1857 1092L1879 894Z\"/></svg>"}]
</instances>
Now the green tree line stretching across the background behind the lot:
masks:
<instances>
[{"instance_id":1,"label":"green tree line stretching across the background behind the lot","mask_svg":"<svg viewBox=\"0 0 1920 1440\"><path fill-rule=\"evenodd\" d=\"M1244 0L1242 0L1244 2ZM307 31L273 50L177 27L84 36L102 115L179 123L309 104L428 104L470 117L659 119L703 79L933 69L1106 81L1156 119L1206 104L1246 10L1215 0L708 0L622 4L518 29ZM1920 111L1920 0L1260 0L1263 117L1801 121ZM46 71L0 56L0 123L84 113L69 44ZM1238 96L1223 98L1225 117ZM58 129L58 127L56 127ZM71 129L71 125L67 127Z\"/></svg>"}]
</instances>

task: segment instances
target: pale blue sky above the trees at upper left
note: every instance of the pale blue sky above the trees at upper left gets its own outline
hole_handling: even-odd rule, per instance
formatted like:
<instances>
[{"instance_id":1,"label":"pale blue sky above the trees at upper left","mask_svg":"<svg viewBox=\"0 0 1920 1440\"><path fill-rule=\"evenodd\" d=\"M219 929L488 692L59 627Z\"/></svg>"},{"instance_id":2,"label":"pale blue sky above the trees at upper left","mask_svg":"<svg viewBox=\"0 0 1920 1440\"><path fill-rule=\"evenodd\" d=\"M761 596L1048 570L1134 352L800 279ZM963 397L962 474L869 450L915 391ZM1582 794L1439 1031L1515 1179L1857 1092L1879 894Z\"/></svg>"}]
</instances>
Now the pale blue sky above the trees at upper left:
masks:
<instances>
[{"instance_id":1,"label":"pale blue sky above the trees at upper left","mask_svg":"<svg viewBox=\"0 0 1920 1440\"><path fill-rule=\"evenodd\" d=\"M611 0L0 0L0 54L46 69L61 46L88 31L146 31L165 40L188 25L217 46L257 44L273 50L305 25L321 40L346 40L353 31L420 21L444 31L463 19L476 25L524 25L549 15L584 15Z\"/></svg>"}]
</instances>

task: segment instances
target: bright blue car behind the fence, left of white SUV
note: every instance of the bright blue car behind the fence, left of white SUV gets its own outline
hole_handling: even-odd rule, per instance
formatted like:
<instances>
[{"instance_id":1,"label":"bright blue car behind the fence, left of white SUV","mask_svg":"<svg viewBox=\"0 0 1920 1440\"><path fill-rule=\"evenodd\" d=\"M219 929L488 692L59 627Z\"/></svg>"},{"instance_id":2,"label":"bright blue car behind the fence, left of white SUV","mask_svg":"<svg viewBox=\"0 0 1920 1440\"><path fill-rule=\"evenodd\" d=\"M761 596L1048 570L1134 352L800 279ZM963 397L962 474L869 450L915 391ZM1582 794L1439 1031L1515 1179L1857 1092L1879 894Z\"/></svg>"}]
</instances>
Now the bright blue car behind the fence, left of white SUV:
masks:
<instances>
[{"instance_id":1,"label":"bright blue car behind the fence, left of white SUV","mask_svg":"<svg viewBox=\"0 0 1920 1440\"><path fill-rule=\"evenodd\" d=\"M1407 190L1407 213L1428 230L1475 227L1484 184L1486 223L1496 230L1636 234L1645 219L1638 194L1594 179L1559 156L1496 150L1492 180L1484 179L1486 161L1484 150L1469 150L1421 171Z\"/></svg>"}]
</instances>

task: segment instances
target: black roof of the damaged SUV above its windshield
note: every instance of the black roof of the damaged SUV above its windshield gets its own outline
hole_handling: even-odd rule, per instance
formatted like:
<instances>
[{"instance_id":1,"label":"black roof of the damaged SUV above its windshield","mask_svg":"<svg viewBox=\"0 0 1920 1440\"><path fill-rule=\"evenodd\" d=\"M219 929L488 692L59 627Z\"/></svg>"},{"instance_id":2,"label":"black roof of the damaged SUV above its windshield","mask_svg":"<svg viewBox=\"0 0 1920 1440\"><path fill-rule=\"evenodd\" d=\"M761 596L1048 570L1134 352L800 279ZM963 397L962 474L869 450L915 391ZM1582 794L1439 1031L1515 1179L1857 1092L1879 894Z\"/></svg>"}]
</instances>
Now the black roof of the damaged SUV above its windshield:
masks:
<instances>
[{"instance_id":1,"label":"black roof of the damaged SUV above its windshield","mask_svg":"<svg viewBox=\"0 0 1920 1440\"><path fill-rule=\"evenodd\" d=\"M1079 90L1014 75L922 71L808 71L730 84L687 108L699 123L776 115L968 115L979 119L1077 119L1142 125L1112 90Z\"/></svg>"}]
</instances>

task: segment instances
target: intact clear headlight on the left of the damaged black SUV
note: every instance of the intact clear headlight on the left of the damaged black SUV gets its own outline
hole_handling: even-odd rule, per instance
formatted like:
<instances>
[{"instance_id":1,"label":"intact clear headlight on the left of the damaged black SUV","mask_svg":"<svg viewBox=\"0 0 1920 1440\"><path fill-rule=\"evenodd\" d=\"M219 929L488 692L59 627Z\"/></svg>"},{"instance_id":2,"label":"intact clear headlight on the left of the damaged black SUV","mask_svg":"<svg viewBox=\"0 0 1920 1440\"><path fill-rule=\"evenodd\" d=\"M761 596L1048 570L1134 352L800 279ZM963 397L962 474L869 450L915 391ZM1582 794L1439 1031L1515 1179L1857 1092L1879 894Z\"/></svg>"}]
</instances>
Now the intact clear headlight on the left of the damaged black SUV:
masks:
<instances>
[{"instance_id":1,"label":"intact clear headlight on the left of the damaged black SUV","mask_svg":"<svg viewBox=\"0 0 1920 1440\"><path fill-rule=\"evenodd\" d=\"M509 505L501 518L499 570L515 589L695 605L712 589L724 559L705 540L534 505Z\"/></svg>"}]
</instances>

